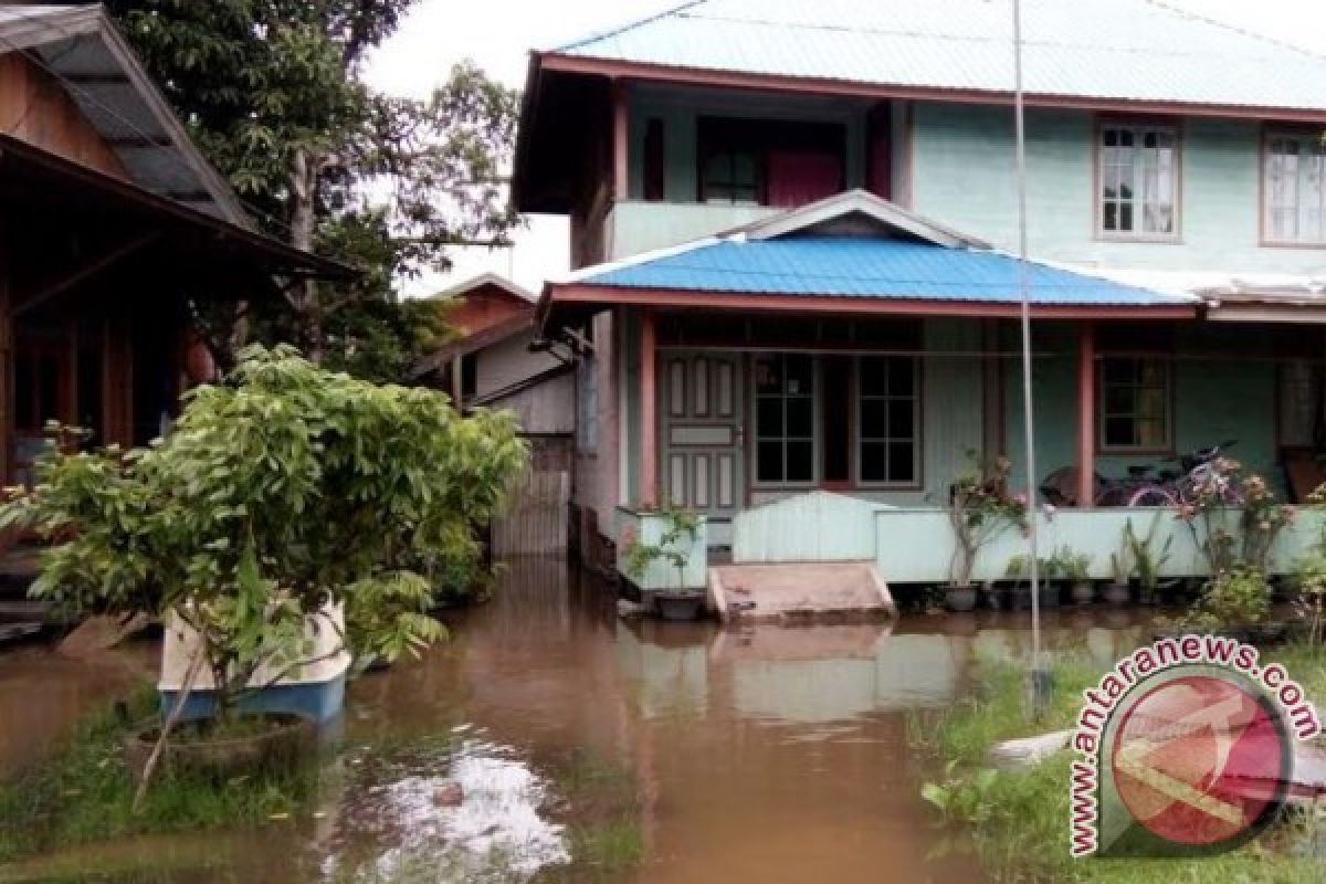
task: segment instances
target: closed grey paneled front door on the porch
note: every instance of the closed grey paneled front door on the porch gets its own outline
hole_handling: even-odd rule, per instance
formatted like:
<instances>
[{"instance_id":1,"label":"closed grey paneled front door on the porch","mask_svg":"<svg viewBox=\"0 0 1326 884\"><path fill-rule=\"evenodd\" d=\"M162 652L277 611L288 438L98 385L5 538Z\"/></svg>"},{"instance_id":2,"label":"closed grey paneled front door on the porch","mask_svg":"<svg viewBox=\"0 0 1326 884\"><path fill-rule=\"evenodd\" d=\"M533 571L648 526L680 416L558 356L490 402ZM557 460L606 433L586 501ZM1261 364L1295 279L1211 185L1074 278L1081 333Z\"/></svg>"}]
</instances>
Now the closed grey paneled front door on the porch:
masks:
<instances>
[{"instance_id":1,"label":"closed grey paneled front door on the porch","mask_svg":"<svg viewBox=\"0 0 1326 884\"><path fill-rule=\"evenodd\" d=\"M658 364L659 494L674 506L731 517L745 488L741 359L668 350Z\"/></svg>"}]
</instances>

